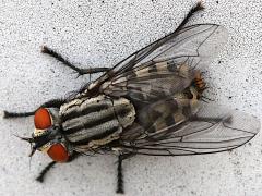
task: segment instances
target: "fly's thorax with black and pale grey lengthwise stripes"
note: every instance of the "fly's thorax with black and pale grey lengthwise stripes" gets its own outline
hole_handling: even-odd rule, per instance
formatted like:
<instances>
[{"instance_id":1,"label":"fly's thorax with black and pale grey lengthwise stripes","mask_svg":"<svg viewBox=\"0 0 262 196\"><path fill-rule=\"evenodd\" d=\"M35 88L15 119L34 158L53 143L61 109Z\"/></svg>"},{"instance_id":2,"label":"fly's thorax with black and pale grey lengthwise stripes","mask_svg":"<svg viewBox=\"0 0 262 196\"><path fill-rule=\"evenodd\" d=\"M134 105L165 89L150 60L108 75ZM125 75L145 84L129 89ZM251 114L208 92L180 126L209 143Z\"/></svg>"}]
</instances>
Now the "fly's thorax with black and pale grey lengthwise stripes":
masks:
<instances>
[{"instance_id":1,"label":"fly's thorax with black and pale grey lengthwise stripes","mask_svg":"<svg viewBox=\"0 0 262 196\"><path fill-rule=\"evenodd\" d=\"M133 105L126 98L104 95L73 99L60 108L62 133L78 151L97 148L119 138L135 118Z\"/></svg>"}]
</instances>

